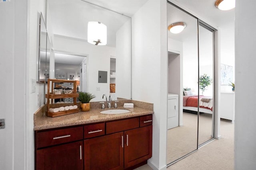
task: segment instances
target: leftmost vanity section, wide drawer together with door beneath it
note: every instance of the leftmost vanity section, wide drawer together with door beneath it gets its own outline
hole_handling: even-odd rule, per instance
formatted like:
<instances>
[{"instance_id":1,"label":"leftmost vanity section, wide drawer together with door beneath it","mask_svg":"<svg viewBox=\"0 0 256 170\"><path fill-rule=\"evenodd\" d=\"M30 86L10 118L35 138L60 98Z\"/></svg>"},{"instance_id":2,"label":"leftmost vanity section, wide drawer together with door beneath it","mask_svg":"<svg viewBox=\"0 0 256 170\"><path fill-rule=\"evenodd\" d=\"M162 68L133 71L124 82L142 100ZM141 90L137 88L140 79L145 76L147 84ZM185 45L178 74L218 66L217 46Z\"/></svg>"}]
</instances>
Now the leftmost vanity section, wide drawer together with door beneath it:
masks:
<instances>
[{"instance_id":1,"label":"leftmost vanity section, wide drawer together with door beneath it","mask_svg":"<svg viewBox=\"0 0 256 170\"><path fill-rule=\"evenodd\" d=\"M83 127L36 131L36 170L83 170Z\"/></svg>"}]
</instances>

